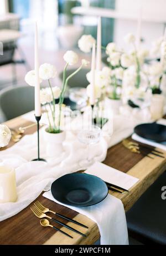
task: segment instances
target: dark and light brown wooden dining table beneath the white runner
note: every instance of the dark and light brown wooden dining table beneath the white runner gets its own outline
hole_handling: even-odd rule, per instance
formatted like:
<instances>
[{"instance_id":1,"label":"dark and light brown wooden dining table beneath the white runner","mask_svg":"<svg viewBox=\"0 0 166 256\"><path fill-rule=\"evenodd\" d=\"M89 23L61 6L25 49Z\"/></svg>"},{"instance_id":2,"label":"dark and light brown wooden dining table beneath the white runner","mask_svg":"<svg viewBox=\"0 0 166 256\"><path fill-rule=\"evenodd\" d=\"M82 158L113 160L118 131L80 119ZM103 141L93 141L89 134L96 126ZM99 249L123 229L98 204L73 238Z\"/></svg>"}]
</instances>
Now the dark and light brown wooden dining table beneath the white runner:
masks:
<instances>
[{"instance_id":1,"label":"dark and light brown wooden dining table beneath the white runner","mask_svg":"<svg viewBox=\"0 0 166 256\"><path fill-rule=\"evenodd\" d=\"M11 121L6 122L9 128L24 127L32 122L27 121L23 117L17 117ZM25 134L32 134L36 130L36 127L25 130ZM24 135L25 135L24 134ZM10 142L8 147L12 147L14 143ZM6 147L6 148L8 148ZM0 150L5 150L1 148ZM166 152L163 152L166 157ZM127 211L138 200L138 198L146 191L146 189L154 183L154 181L165 171L166 158L155 157L154 159L144 157L141 154L134 154L128 149L123 147L122 143L118 143L115 146L108 149L107 157L103 163L121 170L133 177L139 179L129 192L123 192L122 194L117 192L109 193L122 200L122 203ZM85 217L85 215L79 214L74 210L66 208L62 205L56 204L42 196L39 196L38 200L51 210L55 210L60 214L64 214L78 222L84 223L89 227L86 230L86 237L81 237L79 234L72 233L74 239L64 237L63 234L55 232L51 228L43 228L39 219L33 215L30 210L30 205L22 210L22 212L14 215L13 217L0 222L0 244L45 244L45 245L90 245L94 244L99 238L100 233L97 224L91 219ZM66 222L67 223L67 222ZM71 224L71 227L75 227L75 224ZM61 228L60 226L56 226ZM64 228L61 228L65 231ZM85 229L79 227L80 232L85 233ZM111 232L111 230L110 230ZM68 232L71 234L70 232Z\"/></svg>"}]
</instances>

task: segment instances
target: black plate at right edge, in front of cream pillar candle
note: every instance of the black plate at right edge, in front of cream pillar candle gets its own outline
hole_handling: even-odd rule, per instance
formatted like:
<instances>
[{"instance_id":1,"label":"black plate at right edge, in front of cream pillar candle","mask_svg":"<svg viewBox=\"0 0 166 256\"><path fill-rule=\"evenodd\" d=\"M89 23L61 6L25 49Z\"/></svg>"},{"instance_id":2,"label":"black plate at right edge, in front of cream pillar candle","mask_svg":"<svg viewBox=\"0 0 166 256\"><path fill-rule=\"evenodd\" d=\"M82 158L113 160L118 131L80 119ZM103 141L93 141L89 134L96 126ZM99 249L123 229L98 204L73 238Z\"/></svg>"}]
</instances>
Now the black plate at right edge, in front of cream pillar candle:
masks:
<instances>
[{"instance_id":1,"label":"black plate at right edge, in front of cream pillar candle","mask_svg":"<svg viewBox=\"0 0 166 256\"><path fill-rule=\"evenodd\" d=\"M145 139L154 142L166 142L166 126L157 123L139 124L134 128L134 132Z\"/></svg>"}]
</instances>

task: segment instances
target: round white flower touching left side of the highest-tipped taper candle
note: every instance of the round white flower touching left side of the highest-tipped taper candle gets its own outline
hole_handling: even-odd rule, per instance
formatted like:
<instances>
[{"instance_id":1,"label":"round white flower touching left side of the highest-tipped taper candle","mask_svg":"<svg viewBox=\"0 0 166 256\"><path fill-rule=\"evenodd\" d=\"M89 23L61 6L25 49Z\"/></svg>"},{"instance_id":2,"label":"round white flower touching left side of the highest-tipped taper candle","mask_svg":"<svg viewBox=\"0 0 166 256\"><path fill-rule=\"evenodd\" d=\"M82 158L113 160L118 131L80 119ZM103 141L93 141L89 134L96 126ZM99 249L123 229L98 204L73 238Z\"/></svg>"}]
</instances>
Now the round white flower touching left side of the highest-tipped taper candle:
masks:
<instances>
[{"instance_id":1,"label":"round white flower touching left side of the highest-tipped taper candle","mask_svg":"<svg viewBox=\"0 0 166 256\"><path fill-rule=\"evenodd\" d=\"M95 38L90 34L84 34L78 42L78 46L82 52L89 53L93 44L96 42Z\"/></svg>"}]
</instances>

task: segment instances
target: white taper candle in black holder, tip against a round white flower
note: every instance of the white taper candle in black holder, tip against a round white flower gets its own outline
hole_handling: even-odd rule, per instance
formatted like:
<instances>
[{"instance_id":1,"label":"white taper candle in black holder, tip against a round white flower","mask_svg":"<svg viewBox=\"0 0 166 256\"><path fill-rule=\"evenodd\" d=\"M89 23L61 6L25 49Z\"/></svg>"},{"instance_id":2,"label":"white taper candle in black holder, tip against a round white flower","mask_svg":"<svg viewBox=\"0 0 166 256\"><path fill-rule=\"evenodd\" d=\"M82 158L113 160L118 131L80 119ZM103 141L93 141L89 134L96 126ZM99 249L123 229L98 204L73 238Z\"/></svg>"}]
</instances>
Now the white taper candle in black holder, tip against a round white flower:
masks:
<instances>
[{"instance_id":1,"label":"white taper candle in black holder, tip against a round white flower","mask_svg":"<svg viewBox=\"0 0 166 256\"><path fill-rule=\"evenodd\" d=\"M96 44L93 44L92 47L92 61L91 61L91 73L92 73L92 81L91 81L91 94L90 94L90 104L95 104L95 65L96 65Z\"/></svg>"}]
</instances>

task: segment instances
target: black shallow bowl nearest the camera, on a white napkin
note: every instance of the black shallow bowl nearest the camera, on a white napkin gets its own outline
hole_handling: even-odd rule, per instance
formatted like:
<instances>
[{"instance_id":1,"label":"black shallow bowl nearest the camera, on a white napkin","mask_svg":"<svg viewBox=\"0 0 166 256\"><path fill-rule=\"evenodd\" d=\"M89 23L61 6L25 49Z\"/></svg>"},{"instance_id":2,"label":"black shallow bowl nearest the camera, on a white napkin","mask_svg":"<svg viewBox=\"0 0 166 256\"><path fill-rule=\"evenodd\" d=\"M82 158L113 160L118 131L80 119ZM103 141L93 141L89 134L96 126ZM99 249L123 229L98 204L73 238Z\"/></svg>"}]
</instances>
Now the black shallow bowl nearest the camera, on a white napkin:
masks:
<instances>
[{"instance_id":1,"label":"black shallow bowl nearest the camera, on a white napkin","mask_svg":"<svg viewBox=\"0 0 166 256\"><path fill-rule=\"evenodd\" d=\"M106 198L108 188L102 179L85 173L66 174L51 185L53 197L61 203L86 207Z\"/></svg>"}]
</instances>

